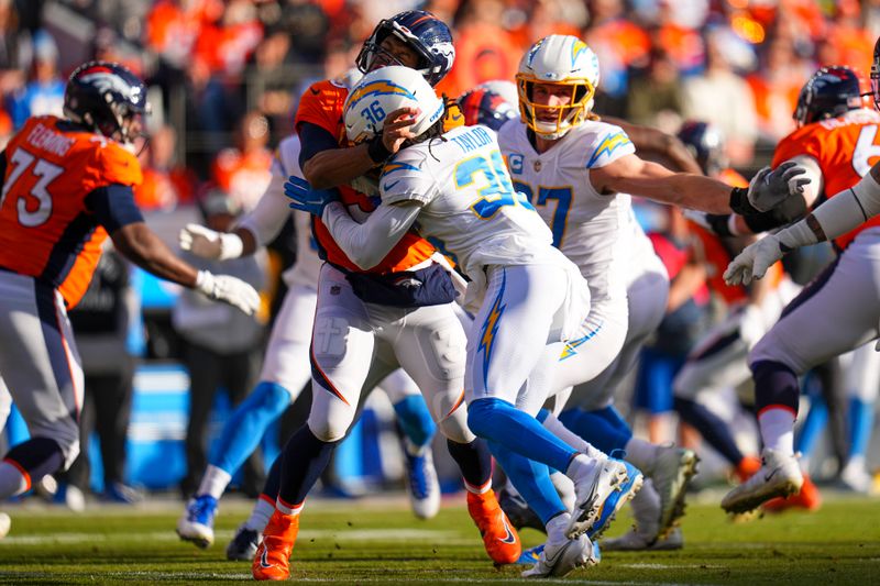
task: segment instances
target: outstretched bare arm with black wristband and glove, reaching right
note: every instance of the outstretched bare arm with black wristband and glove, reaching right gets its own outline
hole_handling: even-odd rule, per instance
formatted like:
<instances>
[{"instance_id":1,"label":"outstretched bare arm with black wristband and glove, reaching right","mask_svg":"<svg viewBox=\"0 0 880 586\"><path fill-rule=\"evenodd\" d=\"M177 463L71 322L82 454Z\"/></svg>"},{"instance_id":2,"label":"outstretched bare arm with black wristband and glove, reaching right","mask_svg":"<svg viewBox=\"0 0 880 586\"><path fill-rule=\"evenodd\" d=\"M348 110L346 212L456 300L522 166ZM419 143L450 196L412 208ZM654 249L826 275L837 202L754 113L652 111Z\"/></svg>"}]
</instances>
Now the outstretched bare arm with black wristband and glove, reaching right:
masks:
<instances>
[{"instance_id":1,"label":"outstretched bare arm with black wristband and glove, reaching right","mask_svg":"<svg viewBox=\"0 0 880 586\"><path fill-rule=\"evenodd\" d=\"M591 169L590 177L601 194L622 191L710 213L749 215L773 209L794 195L803 197L803 186L810 181L800 177L803 173L794 163L783 163L776 169L761 169L748 189L730 188L711 177L673 173L636 155L625 155Z\"/></svg>"}]
</instances>

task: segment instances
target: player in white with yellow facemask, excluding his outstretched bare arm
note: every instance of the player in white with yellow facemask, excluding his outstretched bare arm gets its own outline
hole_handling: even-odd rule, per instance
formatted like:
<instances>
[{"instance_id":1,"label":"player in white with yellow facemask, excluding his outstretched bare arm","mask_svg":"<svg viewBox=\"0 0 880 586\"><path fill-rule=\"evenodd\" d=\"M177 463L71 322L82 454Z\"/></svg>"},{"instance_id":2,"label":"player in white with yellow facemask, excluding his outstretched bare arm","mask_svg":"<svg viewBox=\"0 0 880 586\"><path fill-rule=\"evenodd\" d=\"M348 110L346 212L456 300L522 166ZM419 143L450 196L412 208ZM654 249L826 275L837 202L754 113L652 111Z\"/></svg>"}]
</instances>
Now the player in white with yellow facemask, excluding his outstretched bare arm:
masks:
<instances>
[{"instance_id":1,"label":"player in white with yellow facemask, excluding his outstretched bare arm","mask_svg":"<svg viewBox=\"0 0 880 586\"><path fill-rule=\"evenodd\" d=\"M652 542L658 533L664 535L680 515L676 511L695 472L696 456L689 450L632 438L610 405L614 385L609 383L619 380L631 366L638 346L662 318L668 278L635 222L630 197L617 192L619 188L603 191L595 187L600 169L625 169L623 162L629 157L640 162L627 134L591 112L598 76L595 54L576 37L552 35L539 41L524 56L517 75L521 119L506 123L498 142L515 188L536 203L553 231L553 244L578 265L590 286L587 335L571 343L563 354L558 386L591 383L579 389L573 408L560 419L608 453L625 450L627 460L654 477L660 511L652 522L646 519L642 523ZM559 93L542 102L536 96L540 91ZM576 106L551 107L562 101L563 93ZM637 179L638 174L632 177ZM650 259L653 264L642 264ZM634 307L637 320L630 330L629 306L637 299L641 302ZM649 488L640 500L651 500L651 491Z\"/></svg>"}]
</instances>

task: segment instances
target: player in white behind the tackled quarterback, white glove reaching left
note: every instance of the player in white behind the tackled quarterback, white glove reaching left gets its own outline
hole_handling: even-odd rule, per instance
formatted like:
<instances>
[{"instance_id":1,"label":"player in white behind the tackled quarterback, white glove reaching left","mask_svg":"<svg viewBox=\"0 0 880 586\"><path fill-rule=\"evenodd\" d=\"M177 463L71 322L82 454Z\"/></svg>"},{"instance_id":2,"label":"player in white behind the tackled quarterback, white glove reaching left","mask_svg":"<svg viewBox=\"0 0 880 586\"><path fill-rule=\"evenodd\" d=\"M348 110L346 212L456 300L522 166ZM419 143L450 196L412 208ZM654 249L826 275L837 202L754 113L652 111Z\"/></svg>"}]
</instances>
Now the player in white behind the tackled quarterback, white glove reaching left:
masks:
<instances>
[{"instance_id":1,"label":"player in white behind the tackled quarterback, white glove reaching left","mask_svg":"<svg viewBox=\"0 0 880 586\"><path fill-rule=\"evenodd\" d=\"M356 79L360 79L360 75ZM182 247L200 256L227 259L253 254L260 246L271 242L290 213L283 186L290 175L301 176L299 152L299 137L296 135L278 144L272 164L272 181L266 192L232 232L219 233L199 224L189 224L180 233ZM309 343L317 303L318 273L323 262L318 257L311 237L309 214L298 211L293 214L297 258L283 275L288 289L272 328L260 383L223 425L220 445L213 451L195 497L177 522L180 539L201 548L213 542L218 500L232 474L256 449L268 425L296 400L302 386L311 378ZM388 367L376 363L365 389L372 389L382 378L385 378L382 388L388 394L406 434L407 488L413 511L419 518L431 518L440 507L440 486L430 452L436 425L418 387L406 373L397 369L388 375ZM275 509L277 475L277 464L274 464L266 488L251 517L238 529L227 549L229 559L253 559L260 534Z\"/></svg>"}]
</instances>

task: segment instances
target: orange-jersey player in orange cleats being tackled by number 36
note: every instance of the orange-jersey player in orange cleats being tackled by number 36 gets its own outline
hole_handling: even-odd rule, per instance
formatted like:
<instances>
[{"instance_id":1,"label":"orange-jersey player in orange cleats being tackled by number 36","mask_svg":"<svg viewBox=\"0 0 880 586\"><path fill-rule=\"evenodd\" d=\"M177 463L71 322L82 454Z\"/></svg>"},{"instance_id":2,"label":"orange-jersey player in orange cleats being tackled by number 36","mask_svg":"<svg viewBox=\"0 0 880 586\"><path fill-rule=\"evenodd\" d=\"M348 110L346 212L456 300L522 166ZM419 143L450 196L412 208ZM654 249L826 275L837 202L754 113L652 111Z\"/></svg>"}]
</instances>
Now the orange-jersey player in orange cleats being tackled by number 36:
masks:
<instances>
[{"instance_id":1,"label":"orange-jersey player in orange cleats being tackled by number 36","mask_svg":"<svg viewBox=\"0 0 880 586\"><path fill-rule=\"evenodd\" d=\"M404 65L436 85L452 67L454 55L446 24L428 12L407 11L378 23L356 65L364 73ZM363 220L378 199L373 197L378 195L375 177L364 176L415 136L409 128L416 112L409 108L373 112L386 120L383 133L352 146L342 122L348 96L341 84L314 84L299 102L295 126L302 145L299 162L305 178L316 189L337 188L342 202ZM488 450L466 424L465 334L451 303L451 277L438 263L439 255L415 231L408 231L382 262L363 270L319 220L314 221L312 232L327 262L318 283L312 334L311 412L308 423L285 446L276 510L254 557L254 577L284 579L289 575L304 500L354 420L374 347L377 360L399 363L425 395L462 471L469 511L487 553L496 563L515 562L519 538L492 491ZM433 285L425 285L429 281ZM422 298L415 299L414 294Z\"/></svg>"}]
</instances>

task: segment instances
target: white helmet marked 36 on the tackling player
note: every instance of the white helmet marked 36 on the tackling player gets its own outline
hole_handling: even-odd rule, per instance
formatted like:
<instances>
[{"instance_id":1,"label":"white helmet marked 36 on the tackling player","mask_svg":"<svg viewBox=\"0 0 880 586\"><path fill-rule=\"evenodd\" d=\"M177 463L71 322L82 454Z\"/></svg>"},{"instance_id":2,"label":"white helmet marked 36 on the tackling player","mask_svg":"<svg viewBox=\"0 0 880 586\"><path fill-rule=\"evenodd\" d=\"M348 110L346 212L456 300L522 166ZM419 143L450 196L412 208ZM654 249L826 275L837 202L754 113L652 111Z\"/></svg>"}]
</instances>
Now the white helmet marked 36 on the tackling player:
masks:
<instances>
[{"instance_id":1,"label":"white helmet marked 36 on the tackling player","mask_svg":"<svg viewBox=\"0 0 880 586\"><path fill-rule=\"evenodd\" d=\"M356 143L382 132L385 118L394 110L418 108L410 130L420 135L443 117L446 104L415 69L392 65L366 74L345 100L345 133Z\"/></svg>"}]
</instances>

